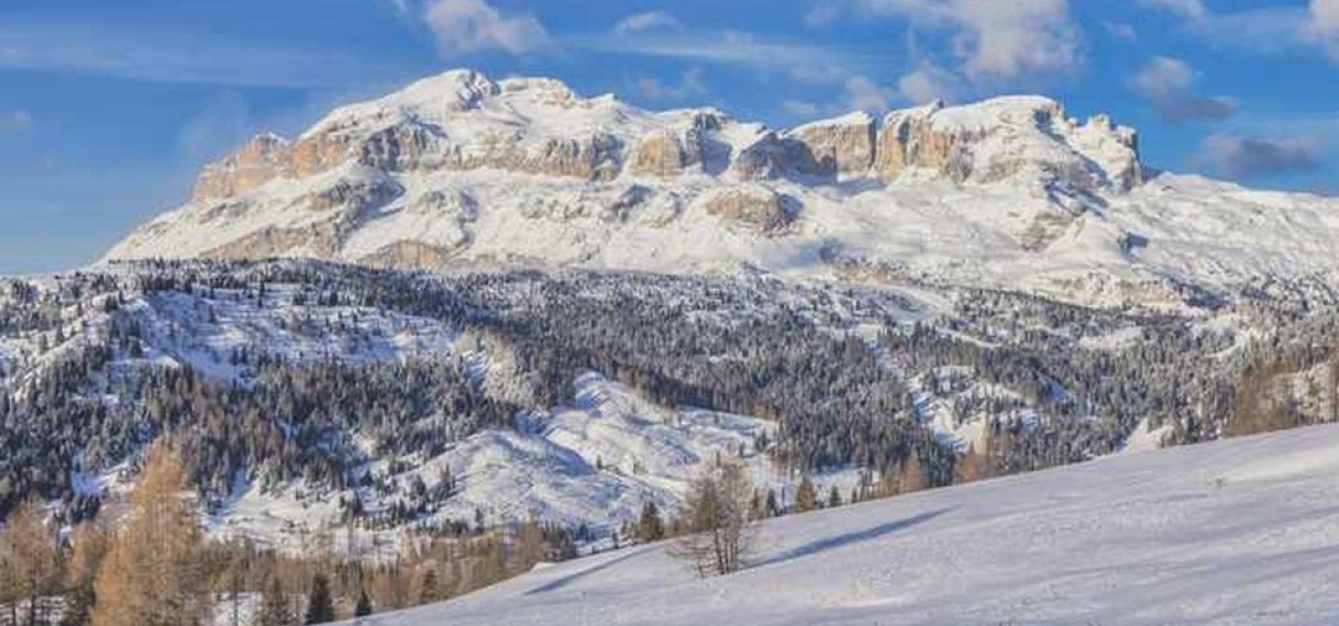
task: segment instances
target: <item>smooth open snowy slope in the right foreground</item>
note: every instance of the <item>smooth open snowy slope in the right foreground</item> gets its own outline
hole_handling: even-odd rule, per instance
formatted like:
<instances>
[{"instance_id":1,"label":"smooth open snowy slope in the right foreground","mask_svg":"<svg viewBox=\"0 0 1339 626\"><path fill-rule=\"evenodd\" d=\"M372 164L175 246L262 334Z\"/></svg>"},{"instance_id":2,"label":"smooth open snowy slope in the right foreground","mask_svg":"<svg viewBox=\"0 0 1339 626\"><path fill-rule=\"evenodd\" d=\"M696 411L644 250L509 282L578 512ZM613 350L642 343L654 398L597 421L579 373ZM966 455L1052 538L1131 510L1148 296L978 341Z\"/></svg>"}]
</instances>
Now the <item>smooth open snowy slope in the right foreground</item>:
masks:
<instances>
[{"instance_id":1,"label":"smooth open snowy slope in the right foreground","mask_svg":"<svg viewBox=\"0 0 1339 626\"><path fill-rule=\"evenodd\" d=\"M695 579L644 546L368 625L1339 623L1339 427L791 516Z\"/></svg>"}]
</instances>

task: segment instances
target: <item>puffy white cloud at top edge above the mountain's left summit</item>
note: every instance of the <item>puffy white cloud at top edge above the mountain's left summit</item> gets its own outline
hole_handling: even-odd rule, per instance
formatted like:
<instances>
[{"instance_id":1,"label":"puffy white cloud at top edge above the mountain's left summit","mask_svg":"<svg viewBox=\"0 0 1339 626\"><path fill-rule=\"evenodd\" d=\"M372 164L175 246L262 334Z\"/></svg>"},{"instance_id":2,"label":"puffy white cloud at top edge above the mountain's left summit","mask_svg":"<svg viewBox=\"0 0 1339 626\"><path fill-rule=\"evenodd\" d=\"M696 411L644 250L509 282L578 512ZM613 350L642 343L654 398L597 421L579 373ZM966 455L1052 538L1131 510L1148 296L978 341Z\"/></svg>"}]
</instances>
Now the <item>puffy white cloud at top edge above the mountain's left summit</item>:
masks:
<instances>
[{"instance_id":1,"label":"puffy white cloud at top edge above the mountain's left summit","mask_svg":"<svg viewBox=\"0 0 1339 626\"><path fill-rule=\"evenodd\" d=\"M522 55L550 45L549 31L529 13L506 15L483 0L435 0L423 19L445 56L501 49Z\"/></svg>"}]
</instances>

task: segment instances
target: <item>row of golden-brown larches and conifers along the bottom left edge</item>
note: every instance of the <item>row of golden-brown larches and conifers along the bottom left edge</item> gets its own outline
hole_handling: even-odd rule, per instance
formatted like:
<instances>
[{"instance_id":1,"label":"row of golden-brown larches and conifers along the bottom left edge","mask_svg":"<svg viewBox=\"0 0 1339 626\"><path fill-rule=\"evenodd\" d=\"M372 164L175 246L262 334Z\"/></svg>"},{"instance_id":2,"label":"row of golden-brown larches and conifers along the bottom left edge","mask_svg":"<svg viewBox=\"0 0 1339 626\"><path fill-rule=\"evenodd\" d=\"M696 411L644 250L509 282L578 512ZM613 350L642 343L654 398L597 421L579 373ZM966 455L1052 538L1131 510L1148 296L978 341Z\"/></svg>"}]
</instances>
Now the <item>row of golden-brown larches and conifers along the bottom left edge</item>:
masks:
<instances>
[{"instance_id":1,"label":"row of golden-brown larches and conifers along the bottom left edge","mask_svg":"<svg viewBox=\"0 0 1339 626\"><path fill-rule=\"evenodd\" d=\"M443 601L576 555L570 534L526 522L467 536L408 535L394 560L285 555L209 540L179 453L155 447L116 515L63 536L35 499L0 530L8 626L297 626ZM260 598L250 615L242 601Z\"/></svg>"}]
</instances>

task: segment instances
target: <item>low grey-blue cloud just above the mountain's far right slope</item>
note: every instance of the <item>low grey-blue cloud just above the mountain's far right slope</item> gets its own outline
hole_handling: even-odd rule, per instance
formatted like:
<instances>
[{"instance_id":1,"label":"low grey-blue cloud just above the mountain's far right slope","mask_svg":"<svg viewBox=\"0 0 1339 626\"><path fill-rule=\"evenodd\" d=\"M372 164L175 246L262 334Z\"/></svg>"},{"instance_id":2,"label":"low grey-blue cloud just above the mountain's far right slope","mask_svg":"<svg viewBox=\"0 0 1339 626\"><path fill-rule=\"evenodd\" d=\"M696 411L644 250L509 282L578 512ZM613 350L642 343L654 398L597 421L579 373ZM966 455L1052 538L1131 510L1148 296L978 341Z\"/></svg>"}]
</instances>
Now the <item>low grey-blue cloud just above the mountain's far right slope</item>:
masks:
<instances>
[{"instance_id":1,"label":"low grey-blue cloud just above the mountain's far right slope","mask_svg":"<svg viewBox=\"0 0 1339 626\"><path fill-rule=\"evenodd\" d=\"M1324 167L1326 146L1314 139L1257 139L1210 135L1194 161L1232 178L1256 178Z\"/></svg>"}]
</instances>

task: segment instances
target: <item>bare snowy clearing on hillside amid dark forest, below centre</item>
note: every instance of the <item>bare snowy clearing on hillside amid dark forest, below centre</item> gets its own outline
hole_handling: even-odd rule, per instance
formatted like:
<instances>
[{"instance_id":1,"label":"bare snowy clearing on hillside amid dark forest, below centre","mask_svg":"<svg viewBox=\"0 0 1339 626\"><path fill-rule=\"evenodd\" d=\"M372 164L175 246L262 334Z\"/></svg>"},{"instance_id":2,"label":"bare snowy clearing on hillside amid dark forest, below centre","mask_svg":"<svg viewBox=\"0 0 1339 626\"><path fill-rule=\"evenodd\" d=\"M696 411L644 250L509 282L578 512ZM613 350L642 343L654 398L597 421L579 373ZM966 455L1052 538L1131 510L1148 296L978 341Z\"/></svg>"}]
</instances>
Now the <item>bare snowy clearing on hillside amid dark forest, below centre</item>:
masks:
<instances>
[{"instance_id":1,"label":"bare snowy clearing on hillside amid dark forest, below centre","mask_svg":"<svg viewBox=\"0 0 1339 626\"><path fill-rule=\"evenodd\" d=\"M663 510L678 508L703 463L740 449L758 484L794 492L797 479L753 449L754 436L774 432L773 423L710 411L664 409L597 375L588 375L576 385L573 407L529 416L517 431L479 432L439 456L412 459L410 469L392 475L402 486L415 475L434 486L442 468L449 467L459 480L459 492L420 522L473 520L479 510L487 524L534 519L570 528L585 524L605 535L636 519L648 500ZM383 459L368 469L386 472L388 467L390 461ZM822 474L817 480L825 487L849 490L857 475ZM352 491L323 494L304 484L279 491L253 487L221 511L212 528L224 536L241 535L296 550L317 534L340 527L337 502L351 495ZM366 492L364 498L375 510L395 495L378 498ZM366 552L394 552L400 546L400 530L364 532L360 540Z\"/></svg>"}]
</instances>

